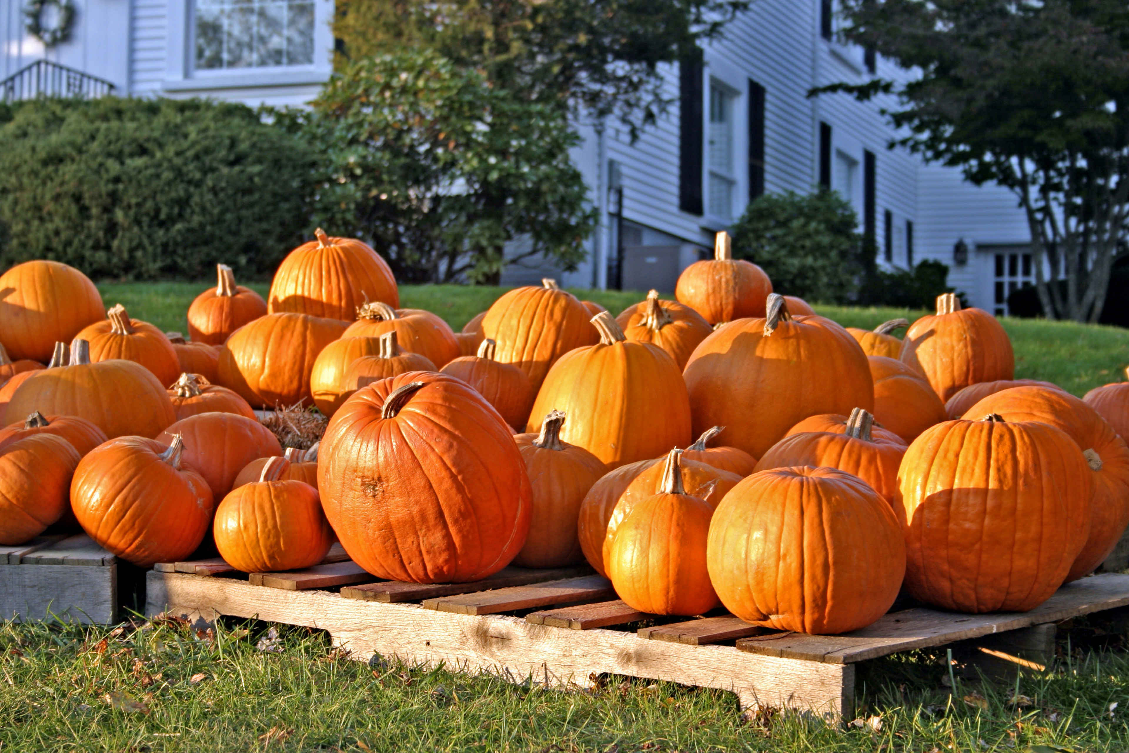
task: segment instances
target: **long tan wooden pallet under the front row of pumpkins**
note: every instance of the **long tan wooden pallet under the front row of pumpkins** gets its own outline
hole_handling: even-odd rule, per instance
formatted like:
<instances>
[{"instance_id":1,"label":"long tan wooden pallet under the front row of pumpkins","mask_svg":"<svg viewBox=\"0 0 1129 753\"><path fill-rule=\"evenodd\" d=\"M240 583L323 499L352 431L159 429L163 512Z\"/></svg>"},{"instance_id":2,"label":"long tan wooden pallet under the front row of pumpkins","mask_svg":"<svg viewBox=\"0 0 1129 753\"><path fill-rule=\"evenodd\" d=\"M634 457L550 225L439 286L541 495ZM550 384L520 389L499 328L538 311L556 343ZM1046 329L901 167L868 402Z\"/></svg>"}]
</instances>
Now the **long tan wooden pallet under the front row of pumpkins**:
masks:
<instances>
[{"instance_id":1,"label":"long tan wooden pallet under the front row of pumpkins","mask_svg":"<svg viewBox=\"0 0 1129 753\"><path fill-rule=\"evenodd\" d=\"M1038 667L1042 665L1019 656L1032 648L1024 629L1129 605L1129 575L1106 573L1065 586L1025 614L910 608L846 636L804 636L768 631L724 613L694 620L644 614L616 599L611 584L587 567L506 568L461 585L370 576L358 583L365 576L348 568L334 581L325 566L251 573L244 580L215 577L211 567L158 566L148 575L147 613L320 628L357 659L380 654L558 685L588 686L601 674L622 674L719 688L736 693L743 706L804 709L828 718L851 713L859 662L990 637L995 648L988 650L995 655ZM329 590L336 587L339 592ZM1017 639L1017 648L999 634L1005 631ZM1035 631L1053 640L1053 629Z\"/></svg>"}]
</instances>

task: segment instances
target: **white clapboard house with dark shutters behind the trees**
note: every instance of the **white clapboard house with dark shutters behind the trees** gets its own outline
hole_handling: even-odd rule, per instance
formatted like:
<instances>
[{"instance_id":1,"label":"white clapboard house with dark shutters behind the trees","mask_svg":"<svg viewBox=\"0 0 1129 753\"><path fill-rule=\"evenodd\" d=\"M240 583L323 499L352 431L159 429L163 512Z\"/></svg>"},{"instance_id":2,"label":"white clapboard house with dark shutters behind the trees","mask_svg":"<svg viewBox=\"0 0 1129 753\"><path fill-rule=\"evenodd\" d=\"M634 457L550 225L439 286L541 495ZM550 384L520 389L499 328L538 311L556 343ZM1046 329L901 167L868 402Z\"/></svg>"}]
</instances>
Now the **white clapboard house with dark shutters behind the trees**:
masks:
<instances>
[{"instance_id":1,"label":"white clapboard house with dark shutters behind the trees","mask_svg":"<svg viewBox=\"0 0 1129 753\"><path fill-rule=\"evenodd\" d=\"M25 10L42 6L50 27L62 1L0 0L3 96L112 87L297 105L331 72L333 0L70 0L69 38L45 47L28 33ZM1009 290L1033 280L1015 199L889 150L883 103L807 97L814 86L899 75L837 42L833 10L833 0L756 0L706 49L703 64L664 69L674 104L638 141L612 120L578 125L576 160L603 221L588 262L558 277L577 287L672 290L749 201L823 184L852 202L882 263L940 260L973 305L1005 314ZM546 272L511 268L506 281Z\"/></svg>"}]
</instances>

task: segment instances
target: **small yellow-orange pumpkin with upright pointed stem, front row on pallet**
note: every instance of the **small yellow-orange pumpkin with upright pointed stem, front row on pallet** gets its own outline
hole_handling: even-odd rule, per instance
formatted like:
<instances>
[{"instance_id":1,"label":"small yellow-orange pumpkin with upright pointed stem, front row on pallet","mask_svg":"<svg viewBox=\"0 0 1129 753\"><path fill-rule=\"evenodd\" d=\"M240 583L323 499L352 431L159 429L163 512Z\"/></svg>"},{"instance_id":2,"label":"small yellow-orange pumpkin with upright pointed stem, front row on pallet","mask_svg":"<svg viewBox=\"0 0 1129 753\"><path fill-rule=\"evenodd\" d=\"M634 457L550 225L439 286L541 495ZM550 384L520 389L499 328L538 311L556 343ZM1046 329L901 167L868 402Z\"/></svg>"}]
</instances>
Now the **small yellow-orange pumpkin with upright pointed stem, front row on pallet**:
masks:
<instances>
[{"instance_id":1,"label":"small yellow-orange pumpkin with upright pointed stem, front row on pallet","mask_svg":"<svg viewBox=\"0 0 1129 753\"><path fill-rule=\"evenodd\" d=\"M650 614L704 614L718 605L706 567L714 507L688 494L679 455L666 457L658 492L640 501L609 549L607 577L628 606Z\"/></svg>"}]
</instances>

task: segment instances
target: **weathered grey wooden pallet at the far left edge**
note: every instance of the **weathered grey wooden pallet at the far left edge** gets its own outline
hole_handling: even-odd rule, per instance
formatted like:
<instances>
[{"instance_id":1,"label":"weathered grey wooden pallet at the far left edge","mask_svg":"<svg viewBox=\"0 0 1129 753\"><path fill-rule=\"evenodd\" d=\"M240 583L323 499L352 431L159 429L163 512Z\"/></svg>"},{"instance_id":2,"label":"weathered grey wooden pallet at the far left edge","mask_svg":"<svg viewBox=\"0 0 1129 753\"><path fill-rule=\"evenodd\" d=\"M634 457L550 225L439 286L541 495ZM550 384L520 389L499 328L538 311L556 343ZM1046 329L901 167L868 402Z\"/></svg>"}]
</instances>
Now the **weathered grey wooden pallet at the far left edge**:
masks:
<instances>
[{"instance_id":1,"label":"weathered grey wooden pallet at the far left edge","mask_svg":"<svg viewBox=\"0 0 1129 753\"><path fill-rule=\"evenodd\" d=\"M117 560L89 536L0 546L0 620L117 621Z\"/></svg>"}]
</instances>

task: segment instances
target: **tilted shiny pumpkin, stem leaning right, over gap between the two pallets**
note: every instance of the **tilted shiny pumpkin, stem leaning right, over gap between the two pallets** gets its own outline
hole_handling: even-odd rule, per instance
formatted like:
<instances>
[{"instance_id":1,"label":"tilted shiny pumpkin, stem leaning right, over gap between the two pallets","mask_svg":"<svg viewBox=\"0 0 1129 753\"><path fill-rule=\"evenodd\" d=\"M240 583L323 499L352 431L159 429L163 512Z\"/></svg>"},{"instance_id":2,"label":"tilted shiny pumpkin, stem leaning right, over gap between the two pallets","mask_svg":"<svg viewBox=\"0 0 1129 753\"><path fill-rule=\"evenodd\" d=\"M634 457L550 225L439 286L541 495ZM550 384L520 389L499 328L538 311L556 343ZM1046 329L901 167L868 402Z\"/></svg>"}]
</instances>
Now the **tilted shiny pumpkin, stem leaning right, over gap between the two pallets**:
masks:
<instances>
[{"instance_id":1,"label":"tilted shiny pumpkin, stem leaning right, over gap between the two pallets","mask_svg":"<svg viewBox=\"0 0 1129 753\"><path fill-rule=\"evenodd\" d=\"M200 546L216 509L203 476L182 463L184 444L143 437L112 439L84 457L70 500L99 546L140 568L186 559Z\"/></svg>"}]
</instances>

